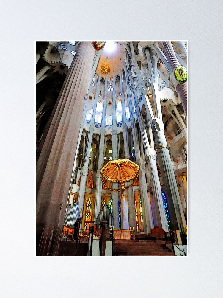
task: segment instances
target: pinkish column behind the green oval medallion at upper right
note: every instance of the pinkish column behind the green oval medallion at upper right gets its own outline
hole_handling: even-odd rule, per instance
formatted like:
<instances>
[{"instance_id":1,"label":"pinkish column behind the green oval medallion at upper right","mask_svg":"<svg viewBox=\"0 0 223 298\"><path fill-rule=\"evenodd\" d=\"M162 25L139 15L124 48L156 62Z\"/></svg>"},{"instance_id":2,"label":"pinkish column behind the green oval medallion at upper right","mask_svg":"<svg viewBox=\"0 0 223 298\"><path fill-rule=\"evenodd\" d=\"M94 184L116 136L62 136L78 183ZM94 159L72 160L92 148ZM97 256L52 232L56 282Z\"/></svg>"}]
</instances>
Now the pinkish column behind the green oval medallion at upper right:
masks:
<instances>
[{"instance_id":1,"label":"pinkish column behind the green oval medallion at upper right","mask_svg":"<svg viewBox=\"0 0 223 298\"><path fill-rule=\"evenodd\" d=\"M161 42L161 46L170 65L171 71L173 72L175 67L180 65L174 52L173 46L170 41ZM184 112L185 114L187 114L187 82L180 83L176 80L174 85L177 86L176 91L178 92L178 95L180 97Z\"/></svg>"}]
</instances>

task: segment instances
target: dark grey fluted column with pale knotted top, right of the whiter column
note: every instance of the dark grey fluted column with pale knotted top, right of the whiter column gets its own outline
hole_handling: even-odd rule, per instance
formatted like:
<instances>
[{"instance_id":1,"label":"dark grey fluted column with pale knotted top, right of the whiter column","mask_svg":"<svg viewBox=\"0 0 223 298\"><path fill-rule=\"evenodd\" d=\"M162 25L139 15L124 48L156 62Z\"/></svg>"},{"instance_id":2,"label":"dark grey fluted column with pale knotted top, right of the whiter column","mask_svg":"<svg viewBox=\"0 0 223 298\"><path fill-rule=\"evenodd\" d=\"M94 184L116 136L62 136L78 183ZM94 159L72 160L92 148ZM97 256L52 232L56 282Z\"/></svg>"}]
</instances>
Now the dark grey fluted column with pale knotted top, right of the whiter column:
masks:
<instances>
[{"instance_id":1,"label":"dark grey fluted column with pale knotted top, right of the whiter column","mask_svg":"<svg viewBox=\"0 0 223 298\"><path fill-rule=\"evenodd\" d=\"M155 136L156 150L159 158L162 181L166 191L167 205L170 215L170 226L172 230L178 229L180 224L186 226L186 221L181 205L180 195L173 171L172 162L164 135L164 124L162 120L153 120L153 134Z\"/></svg>"}]
</instances>

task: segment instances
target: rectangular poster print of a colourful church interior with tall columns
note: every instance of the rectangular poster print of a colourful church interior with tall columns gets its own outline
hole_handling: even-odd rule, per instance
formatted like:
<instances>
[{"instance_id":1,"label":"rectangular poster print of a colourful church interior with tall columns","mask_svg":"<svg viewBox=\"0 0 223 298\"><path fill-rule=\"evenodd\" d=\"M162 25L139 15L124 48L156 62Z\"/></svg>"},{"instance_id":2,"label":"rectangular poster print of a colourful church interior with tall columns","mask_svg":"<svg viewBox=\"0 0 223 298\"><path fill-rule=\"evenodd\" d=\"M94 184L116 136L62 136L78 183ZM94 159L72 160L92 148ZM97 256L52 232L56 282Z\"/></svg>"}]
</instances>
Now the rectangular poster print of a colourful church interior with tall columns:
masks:
<instances>
[{"instance_id":1,"label":"rectangular poster print of a colourful church interior with tall columns","mask_svg":"<svg viewBox=\"0 0 223 298\"><path fill-rule=\"evenodd\" d=\"M36 255L187 255L187 42L36 42Z\"/></svg>"}]
</instances>

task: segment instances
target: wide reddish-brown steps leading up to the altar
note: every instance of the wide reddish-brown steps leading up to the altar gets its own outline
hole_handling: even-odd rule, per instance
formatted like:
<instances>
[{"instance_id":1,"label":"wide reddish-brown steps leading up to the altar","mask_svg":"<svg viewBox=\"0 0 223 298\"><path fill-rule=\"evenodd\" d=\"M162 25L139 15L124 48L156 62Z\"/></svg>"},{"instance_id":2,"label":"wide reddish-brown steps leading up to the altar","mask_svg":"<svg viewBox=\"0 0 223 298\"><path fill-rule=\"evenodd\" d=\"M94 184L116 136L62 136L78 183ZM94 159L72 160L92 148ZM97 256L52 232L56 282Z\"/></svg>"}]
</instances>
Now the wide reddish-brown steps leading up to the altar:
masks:
<instances>
[{"instance_id":1,"label":"wide reddish-brown steps leading up to the altar","mask_svg":"<svg viewBox=\"0 0 223 298\"><path fill-rule=\"evenodd\" d=\"M114 256L174 256L162 240L119 240L114 239Z\"/></svg>"}]
</instances>

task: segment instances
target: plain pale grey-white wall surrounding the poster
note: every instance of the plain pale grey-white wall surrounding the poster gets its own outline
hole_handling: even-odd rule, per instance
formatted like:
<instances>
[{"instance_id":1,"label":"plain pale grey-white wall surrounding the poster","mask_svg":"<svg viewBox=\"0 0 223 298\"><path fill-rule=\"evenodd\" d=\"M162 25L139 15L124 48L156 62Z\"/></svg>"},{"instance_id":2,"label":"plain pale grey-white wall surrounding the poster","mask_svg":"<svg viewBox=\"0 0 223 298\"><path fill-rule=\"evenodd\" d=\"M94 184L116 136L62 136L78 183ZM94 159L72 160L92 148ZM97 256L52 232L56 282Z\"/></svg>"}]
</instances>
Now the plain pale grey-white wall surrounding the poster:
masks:
<instances>
[{"instance_id":1,"label":"plain pale grey-white wall surrounding the poster","mask_svg":"<svg viewBox=\"0 0 223 298\"><path fill-rule=\"evenodd\" d=\"M3 297L221 297L222 1L1 1ZM34 257L34 40L189 40L189 257Z\"/></svg>"}]
</instances>

